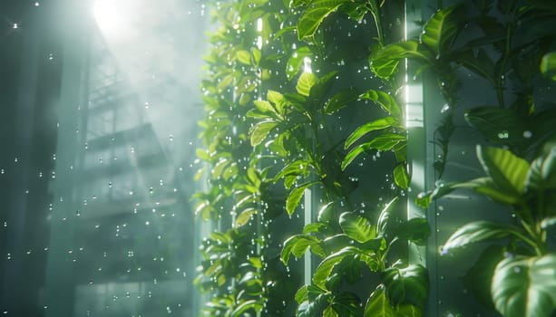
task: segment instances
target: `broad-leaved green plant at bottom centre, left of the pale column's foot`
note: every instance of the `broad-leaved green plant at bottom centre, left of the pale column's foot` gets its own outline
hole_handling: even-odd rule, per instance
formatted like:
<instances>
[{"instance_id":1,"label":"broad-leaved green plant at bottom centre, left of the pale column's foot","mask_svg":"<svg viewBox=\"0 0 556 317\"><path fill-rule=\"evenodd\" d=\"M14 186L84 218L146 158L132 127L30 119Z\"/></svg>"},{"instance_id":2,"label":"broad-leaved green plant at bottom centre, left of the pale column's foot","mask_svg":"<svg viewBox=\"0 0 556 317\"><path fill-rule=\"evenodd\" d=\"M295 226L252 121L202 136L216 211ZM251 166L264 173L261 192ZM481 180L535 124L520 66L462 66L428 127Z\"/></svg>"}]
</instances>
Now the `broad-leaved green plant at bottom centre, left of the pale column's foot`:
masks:
<instances>
[{"instance_id":1,"label":"broad-leaved green plant at bottom centre, left of the pale column's foot","mask_svg":"<svg viewBox=\"0 0 556 317\"><path fill-rule=\"evenodd\" d=\"M420 314L426 303L428 275L423 266L398 259L388 264L388 254L395 244L424 244L429 226L422 218L405 220L392 214L394 198L382 210L376 225L364 216L344 212L334 221L305 226L303 234L293 235L284 243L280 255L284 264L289 257L305 255L308 249L322 258L312 277L296 294L299 316L385 316ZM321 220L328 204L321 210ZM341 233L336 234L334 226ZM376 290L363 307L356 294L342 289L342 280L356 283L363 270L380 274ZM411 312L411 313L410 313Z\"/></svg>"}]
</instances>

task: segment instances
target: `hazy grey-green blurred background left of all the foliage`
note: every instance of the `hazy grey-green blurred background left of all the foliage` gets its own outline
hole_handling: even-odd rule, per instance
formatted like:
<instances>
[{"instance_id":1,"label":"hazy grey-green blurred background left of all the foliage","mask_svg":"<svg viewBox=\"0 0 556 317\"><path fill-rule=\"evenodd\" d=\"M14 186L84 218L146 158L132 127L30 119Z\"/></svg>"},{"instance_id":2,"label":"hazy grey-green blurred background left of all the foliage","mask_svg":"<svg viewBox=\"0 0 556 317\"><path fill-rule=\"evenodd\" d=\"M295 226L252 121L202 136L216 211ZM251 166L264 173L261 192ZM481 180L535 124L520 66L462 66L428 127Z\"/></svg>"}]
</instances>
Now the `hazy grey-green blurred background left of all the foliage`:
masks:
<instances>
[{"instance_id":1,"label":"hazy grey-green blurred background left of all the foliage","mask_svg":"<svg viewBox=\"0 0 556 317\"><path fill-rule=\"evenodd\" d=\"M195 1L0 4L0 314L194 314L206 24Z\"/></svg>"}]
</instances>

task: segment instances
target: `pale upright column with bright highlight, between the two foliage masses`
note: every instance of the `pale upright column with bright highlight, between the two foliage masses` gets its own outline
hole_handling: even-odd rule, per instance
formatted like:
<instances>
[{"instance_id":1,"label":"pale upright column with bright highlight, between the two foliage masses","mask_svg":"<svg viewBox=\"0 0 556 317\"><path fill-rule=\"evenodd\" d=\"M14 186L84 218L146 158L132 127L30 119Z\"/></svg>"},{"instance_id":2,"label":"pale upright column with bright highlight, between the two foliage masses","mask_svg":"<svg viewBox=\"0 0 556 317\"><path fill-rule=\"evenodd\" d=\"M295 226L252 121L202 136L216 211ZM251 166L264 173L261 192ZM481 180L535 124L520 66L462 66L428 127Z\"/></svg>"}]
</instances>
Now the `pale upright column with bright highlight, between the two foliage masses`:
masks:
<instances>
[{"instance_id":1,"label":"pale upright column with bright highlight, between the two foliage masses","mask_svg":"<svg viewBox=\"0 0 556 317\"><path fill-rule=\"evenodd\" d=\"M424 16L432 14L427 9L431 1L405 1L405 39L418 37L421 26L417 21L423 21ZM415 205L415 199L419 193L431 188L434 184L434 145L430 140L434 139L434 113L427 111L427 105L434 102L437 91L428 89L434 87L434 82L425 73L419 78L413 78L412 74L419 65L411 61L405 64L405 115L407 127L407 159L411 174L411 185L407 199L407 218L424 217L431 226L431 235L426 246L410 245L409 261L414 264L424 265L429 272L429 301L427 303L426 315L436 316L437 280L436 276L436 246L435 228L436 216L434 208L423 210Z\"/></svg>"}]
</instances>

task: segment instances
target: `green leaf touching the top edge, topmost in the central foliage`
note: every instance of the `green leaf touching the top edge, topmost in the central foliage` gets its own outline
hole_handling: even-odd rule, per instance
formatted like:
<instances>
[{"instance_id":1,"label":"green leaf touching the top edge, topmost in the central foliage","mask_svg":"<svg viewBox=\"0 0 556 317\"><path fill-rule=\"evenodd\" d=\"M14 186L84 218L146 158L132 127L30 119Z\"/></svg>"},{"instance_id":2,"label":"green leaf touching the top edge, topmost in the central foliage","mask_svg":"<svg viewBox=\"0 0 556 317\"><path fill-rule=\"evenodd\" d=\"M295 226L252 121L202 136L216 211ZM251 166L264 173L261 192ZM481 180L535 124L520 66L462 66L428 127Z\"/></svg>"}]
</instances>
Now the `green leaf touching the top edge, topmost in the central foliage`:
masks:
<instances>
[{"instance_id":1,"label":"green leaf touching the top edge, topmost in the central foliage","mask_svg":"<svg viewBox=\"0 0 556 317\"><path fill-rule=\"evenodd\" d=\"M349 2L349 0L313 0L307 6L298 22L298 38L302 40L306 36L312 36L318 26L328 14L336 11L337 7Z\"/></svg>"}]
</instances>

